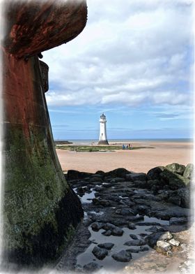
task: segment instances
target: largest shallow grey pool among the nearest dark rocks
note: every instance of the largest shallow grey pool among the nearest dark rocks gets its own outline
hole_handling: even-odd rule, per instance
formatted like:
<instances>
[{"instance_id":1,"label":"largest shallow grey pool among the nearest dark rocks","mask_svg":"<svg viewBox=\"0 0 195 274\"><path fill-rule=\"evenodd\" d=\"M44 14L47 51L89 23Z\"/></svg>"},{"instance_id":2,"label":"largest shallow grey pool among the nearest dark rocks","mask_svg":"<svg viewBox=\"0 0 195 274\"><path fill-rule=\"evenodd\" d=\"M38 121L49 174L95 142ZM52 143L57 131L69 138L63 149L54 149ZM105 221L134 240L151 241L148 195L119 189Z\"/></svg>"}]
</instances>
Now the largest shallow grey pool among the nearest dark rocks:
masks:
<instances>
[{"instance_id":1,"label":"largest shallow grey pool among the nearest dark rocks","mask_svg":"<svg viewBox=\"0 0 195 274\"><path fill-rule=\"evenodd\" d=\"M159 223L159 226L160 224L162 225L169 224L169 221L159 220L155 217L148 217L148 216L145 216L142 222L157 222ZM151 226L153 225L151 224ZM100 264L100 266L103 266L104 268L109 270L114 269L115 271L117 271L117 270L120 270L120 268L124 268L130 263L123 263L120 261L116 261L111 257L111 255L119 252L120 250L128 250L130 248L139 250L138 246L129 247L127 245L124 245L124 243L127 242L128 240L132 240L132 238L130 237L130 234L136 235L139 239L141 239L141 236L139 235L141 233L146 233L149 235L151 232L146 231L146 229L150 228L151 226L137 226L137 228L134 230L123 228L123 231L124 231L123 236L104 236L102 235L102 232L104 231L104 229L100 229L100 231L97 232L97 231L93 231L91 229L91 226L89 226L88 230L91 233L91 238L89 240L91 240L93 243L91 243L91 245L86 249L84 253L79 254L79 256L77 257L77 264L84 266L85 264L88 264L92 261L96 261L98 264ZM112 247L112 249L109 250L109 254L103 260L97 259L92 253L93 247L95 247L95 245L98 245L99 243L114 243L114 247ZM145 246L148 247L149 250L145 252L132 253L131 262L145 256L148 252L152 251L152 249L148 245L145 245Z\"/></svg>"}]
</instances>

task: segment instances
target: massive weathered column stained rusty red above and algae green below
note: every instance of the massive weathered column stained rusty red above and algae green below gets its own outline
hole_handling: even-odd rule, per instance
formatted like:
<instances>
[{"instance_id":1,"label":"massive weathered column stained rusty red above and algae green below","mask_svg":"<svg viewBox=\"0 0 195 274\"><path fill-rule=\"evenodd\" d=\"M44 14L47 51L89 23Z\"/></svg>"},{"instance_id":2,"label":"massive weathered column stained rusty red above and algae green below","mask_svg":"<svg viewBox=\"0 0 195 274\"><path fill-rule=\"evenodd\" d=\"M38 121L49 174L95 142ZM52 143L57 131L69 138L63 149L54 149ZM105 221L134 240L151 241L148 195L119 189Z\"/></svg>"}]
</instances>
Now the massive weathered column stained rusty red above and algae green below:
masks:
<instances>
[{"instance_id":1,"label":"massive weathered column stained rusty red above and algae green below","mask_svg":"<svg viewBox=\"0 0 195 274\"><path fill-rule=\"evenodd\" d=\"M37 54L75 38L85 24L85 1L6 7L4 248L6 259L17 264L58 257L83 217L56 157Z\"/></svg>"}]
</instances>

